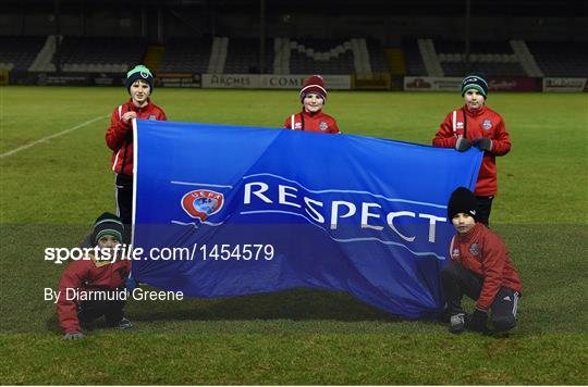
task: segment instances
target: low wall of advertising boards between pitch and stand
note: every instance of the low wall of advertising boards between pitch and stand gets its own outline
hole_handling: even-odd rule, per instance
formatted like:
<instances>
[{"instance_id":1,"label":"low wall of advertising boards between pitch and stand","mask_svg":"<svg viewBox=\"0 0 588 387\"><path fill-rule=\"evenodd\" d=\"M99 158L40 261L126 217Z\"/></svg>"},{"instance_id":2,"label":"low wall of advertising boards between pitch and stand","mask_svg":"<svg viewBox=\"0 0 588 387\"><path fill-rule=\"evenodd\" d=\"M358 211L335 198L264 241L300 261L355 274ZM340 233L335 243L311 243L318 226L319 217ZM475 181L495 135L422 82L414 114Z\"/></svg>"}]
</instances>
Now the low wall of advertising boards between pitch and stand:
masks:
<instances>
[{"instance_id":1,"label":"low wall of advertising boards between pitch and stand","mask_svg":"<svg viewBox=\"0 0 588 387\"><path fill-rule=\"evenodd\" d=\"M213 89L299 89L308 75L160 73L158 87ZM323 75L331 90L458 91L462 78L373 74ZM0 73L0 85L123 86L120 73ZM493 91L587 92L588 78L497 77L488 79Z\"/></svg>"}]
</instances>

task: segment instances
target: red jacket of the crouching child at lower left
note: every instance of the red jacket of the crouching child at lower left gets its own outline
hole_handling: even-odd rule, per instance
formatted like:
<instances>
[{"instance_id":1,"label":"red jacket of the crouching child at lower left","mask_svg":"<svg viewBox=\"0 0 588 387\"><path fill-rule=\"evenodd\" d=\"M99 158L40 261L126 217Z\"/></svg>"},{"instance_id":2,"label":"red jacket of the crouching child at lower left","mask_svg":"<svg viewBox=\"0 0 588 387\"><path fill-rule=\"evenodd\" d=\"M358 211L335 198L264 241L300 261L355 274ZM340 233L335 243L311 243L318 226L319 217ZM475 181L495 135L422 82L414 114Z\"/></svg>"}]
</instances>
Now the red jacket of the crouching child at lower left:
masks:
<instances>
[{"instance_id":1,"label":"red jacket of the crouching child at lower left","mask_svg":"<svg viewBox=\"0 0 588 387\"><path fill-rule=\"evenodd\" d=\"M59 282L57 312L63 330L66 334L79 332L78 302L68 300L68 288L78 291L114 290L124 284L130 272L131 260L118 260L114 263L94 259L71 262Z\"/></svg>"}]
</instances>

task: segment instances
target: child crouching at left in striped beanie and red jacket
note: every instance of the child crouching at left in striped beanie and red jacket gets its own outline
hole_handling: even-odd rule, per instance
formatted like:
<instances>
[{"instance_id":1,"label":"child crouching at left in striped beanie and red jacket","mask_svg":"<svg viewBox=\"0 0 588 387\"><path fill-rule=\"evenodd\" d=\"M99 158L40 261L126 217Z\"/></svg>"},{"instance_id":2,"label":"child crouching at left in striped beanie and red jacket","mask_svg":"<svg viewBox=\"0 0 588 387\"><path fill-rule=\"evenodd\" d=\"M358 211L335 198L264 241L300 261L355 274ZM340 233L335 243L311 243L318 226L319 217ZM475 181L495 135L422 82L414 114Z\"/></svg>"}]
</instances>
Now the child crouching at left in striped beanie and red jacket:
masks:
<instances>
[{"instance_id":1,"label":"child crouching at left in striped beanie and red jacket","mask_svg":"<svg viewBox=\"0 0 588 387\"><path fill-rule=\"evenodd\" d=\"M91 240L113 257L123 236L123 223L117 215L103 213L94 225ZM101 316L108 326L130 328L124 317L124 283L131 272L128 259L99 260L93 254L71 262L59 282L57 313L66 340L84 337L81 324L89 324Z\"/></svg>"}]
</instances>

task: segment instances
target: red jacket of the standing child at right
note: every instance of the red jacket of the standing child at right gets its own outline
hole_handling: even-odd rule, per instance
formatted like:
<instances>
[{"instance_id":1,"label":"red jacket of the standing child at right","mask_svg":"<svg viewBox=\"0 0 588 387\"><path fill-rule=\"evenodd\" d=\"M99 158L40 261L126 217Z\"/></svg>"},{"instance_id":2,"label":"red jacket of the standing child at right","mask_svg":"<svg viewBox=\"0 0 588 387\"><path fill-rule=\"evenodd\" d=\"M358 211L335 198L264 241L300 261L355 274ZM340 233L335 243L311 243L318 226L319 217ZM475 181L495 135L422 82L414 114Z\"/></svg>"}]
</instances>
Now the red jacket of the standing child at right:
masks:
<instances>
[{"instance_id":1,"label":"red jacket of the standing child at right","mask_svg":"<svg viewBox=\"0 0 588 387\"><path fill-rule=\"evenodd\" d=\"M465 112L465 115L464 115ZM502 116L492 109L481 107L469 110L466 105L448 114L432 140L433 147L455 148L457 137L464 135L474 140L488 137L492 140L492 149L483 152L482 164L476 183L477 196L497 194L497 155L504 155L511 150L511 137L504 126Z\"/></svg>"}]
</instances>

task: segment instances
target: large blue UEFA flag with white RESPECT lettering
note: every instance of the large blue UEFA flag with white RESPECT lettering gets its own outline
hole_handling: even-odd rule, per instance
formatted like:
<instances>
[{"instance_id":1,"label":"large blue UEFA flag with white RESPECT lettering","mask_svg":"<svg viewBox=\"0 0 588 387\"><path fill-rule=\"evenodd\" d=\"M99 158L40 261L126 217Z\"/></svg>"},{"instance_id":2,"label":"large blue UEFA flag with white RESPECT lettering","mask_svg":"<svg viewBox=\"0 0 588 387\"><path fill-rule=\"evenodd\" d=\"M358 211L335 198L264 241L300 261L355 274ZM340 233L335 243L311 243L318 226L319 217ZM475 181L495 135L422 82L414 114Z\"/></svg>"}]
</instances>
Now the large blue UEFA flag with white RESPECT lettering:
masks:
<instances>
[{"instance_id":1,"label":"large blue UEFA flag with white RESPECT lettering","mask_svg":"<svg viewBox=\"0 0 588 387\"><path fill-rule=\"evenodd\" d=\"M351 136L136 121L139 282L193 297L311 287L390 313L442 307L446 202L482 152Z\"/></svg>"}]
</instances>

